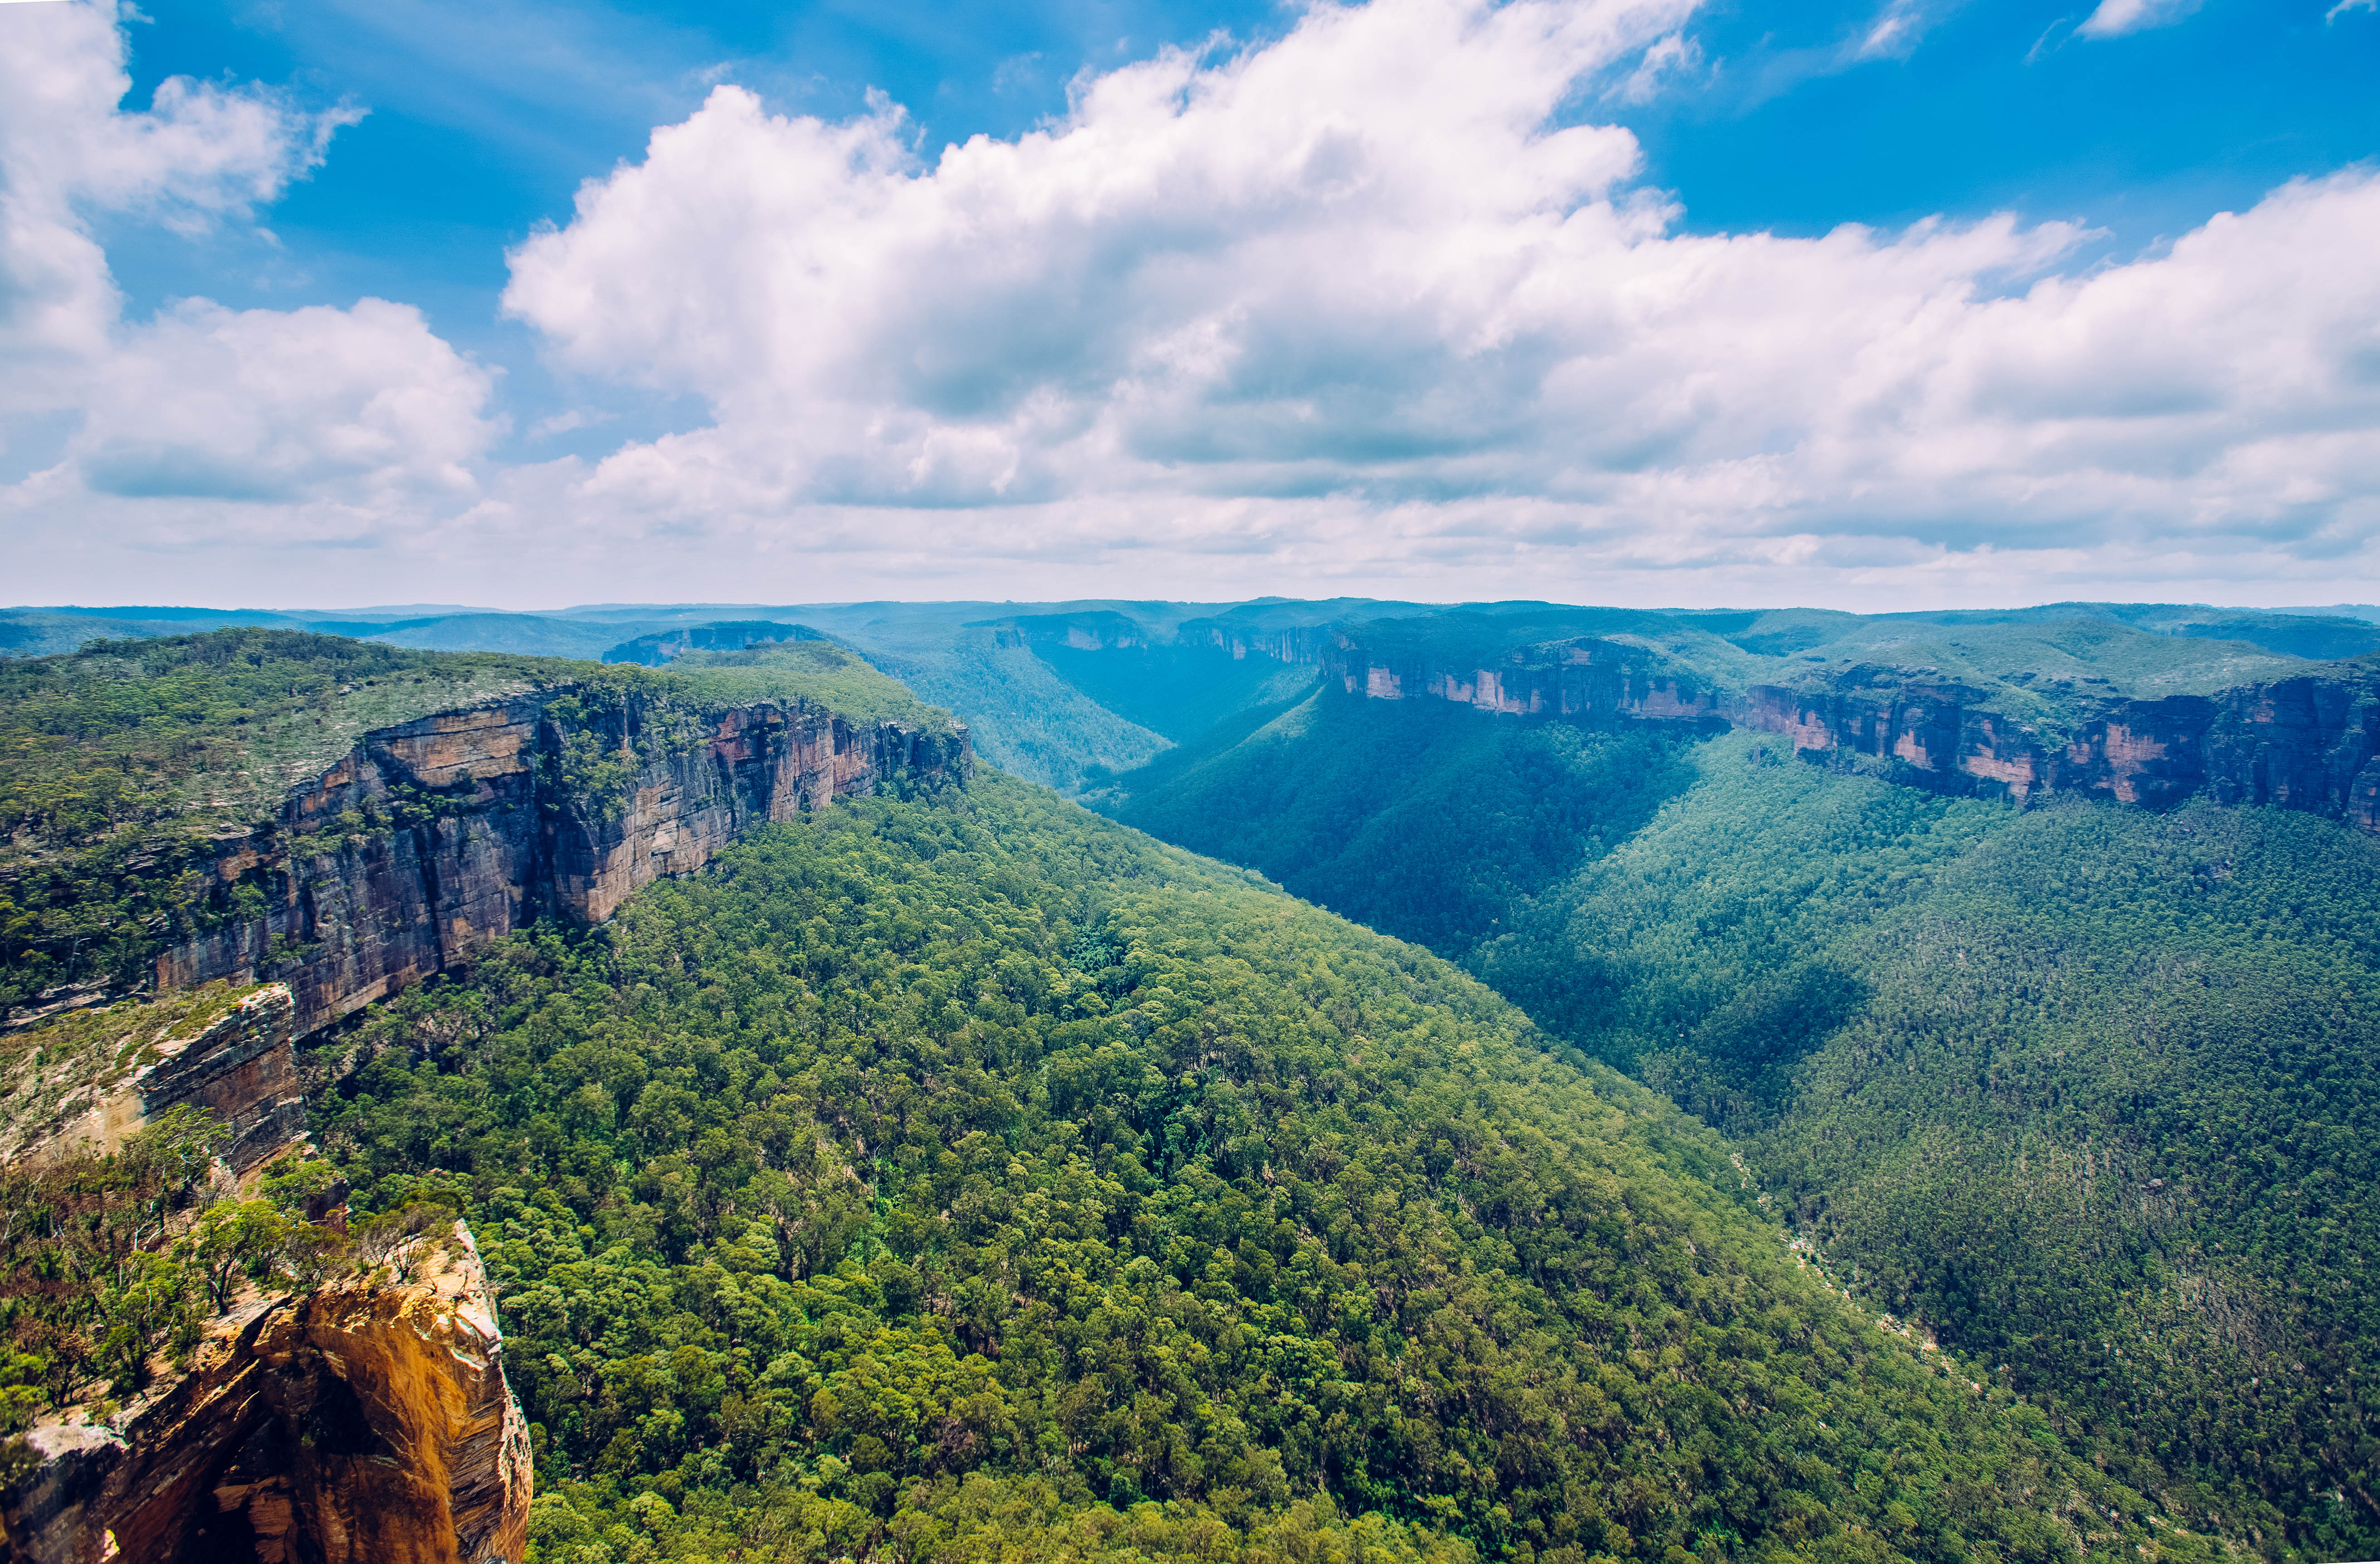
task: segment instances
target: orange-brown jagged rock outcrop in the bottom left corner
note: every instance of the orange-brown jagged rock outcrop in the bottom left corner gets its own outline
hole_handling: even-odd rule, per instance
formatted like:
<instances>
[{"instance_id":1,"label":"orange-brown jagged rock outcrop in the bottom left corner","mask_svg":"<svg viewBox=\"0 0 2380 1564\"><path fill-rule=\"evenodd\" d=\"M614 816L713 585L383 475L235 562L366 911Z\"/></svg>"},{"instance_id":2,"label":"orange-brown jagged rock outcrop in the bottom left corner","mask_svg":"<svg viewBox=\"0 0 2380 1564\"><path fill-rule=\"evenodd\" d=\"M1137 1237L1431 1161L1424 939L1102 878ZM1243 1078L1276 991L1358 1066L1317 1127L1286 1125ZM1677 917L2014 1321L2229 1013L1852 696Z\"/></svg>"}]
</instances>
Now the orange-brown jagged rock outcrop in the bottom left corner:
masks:
<instances>
[{"instance_id":1,"label":"orange-brown jagged rock outcrop in the bottom left corner","mask_svg":"<svg viewBox=\"0 0 2380 1564\"><path fill-rule=\"evenodd\" d=\"M393 1266L250 1302L112 1421L50 1421L0 1490L21 1564L519 1564L528 1428L457 1224Z\"/></svg>"}]
</instances>

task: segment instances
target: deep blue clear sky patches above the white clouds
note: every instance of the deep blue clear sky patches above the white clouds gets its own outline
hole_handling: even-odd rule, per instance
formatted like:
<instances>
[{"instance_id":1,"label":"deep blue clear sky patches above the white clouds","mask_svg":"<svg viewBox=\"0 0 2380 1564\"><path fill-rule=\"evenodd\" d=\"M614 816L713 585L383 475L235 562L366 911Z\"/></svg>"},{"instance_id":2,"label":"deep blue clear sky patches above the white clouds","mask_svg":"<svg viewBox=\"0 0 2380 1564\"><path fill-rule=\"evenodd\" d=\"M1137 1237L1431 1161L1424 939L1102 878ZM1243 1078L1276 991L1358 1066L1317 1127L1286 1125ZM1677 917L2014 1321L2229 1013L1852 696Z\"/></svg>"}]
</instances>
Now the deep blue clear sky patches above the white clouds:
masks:
<instances>
[{"instance_id":1,"label":"deep blue clear sky patches above the white clouds","mask_svg":"<svg viewBox=\"0 0 2380 1564\"><path fill-rule=\"evenodd\" d=\"M2380 157L2380 17L2209 0L2094 43L2090 0L1737 2L1702 12L1711 69L1647 102L1573 105L1645 143L1647 174L1697 231L1816 236L1844 221L2011 209L2106 229L2125 252L2275 183ZM1906 33L1861 52L1878 21ZM566 221L578 181L635 159L652 126L719 79L785 112L847 117L871 88L928 145L1066 112L1076 71L1223 31L1278 36L1278 5L157 5L131 31L133 100L167 76L267 81L369 117L271 212L276 245L112 245L138 305L421 302L440 333L512 355L505 250ZM550 390L509 362L528 405ZM697 409L678 409L700 417ZM666 421L666 419L664 419Z\"/></svg>"}]
</instances>

